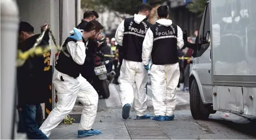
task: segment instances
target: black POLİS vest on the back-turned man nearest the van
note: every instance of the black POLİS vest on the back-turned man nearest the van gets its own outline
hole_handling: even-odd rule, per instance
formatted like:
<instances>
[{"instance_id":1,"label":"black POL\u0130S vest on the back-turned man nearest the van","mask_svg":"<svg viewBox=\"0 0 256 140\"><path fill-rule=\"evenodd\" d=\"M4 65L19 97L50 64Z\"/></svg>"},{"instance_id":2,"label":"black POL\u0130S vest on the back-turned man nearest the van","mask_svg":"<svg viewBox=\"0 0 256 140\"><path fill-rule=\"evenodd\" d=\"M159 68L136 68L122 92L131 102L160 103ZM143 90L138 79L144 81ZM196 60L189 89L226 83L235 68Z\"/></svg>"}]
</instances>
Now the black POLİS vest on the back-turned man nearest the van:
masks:
<instances>
[{"instance_id":1,"label":"black POL\u0130S vest on the back-turned man nearest the van","mask_svg":"<svg viewBox=\"0 0 256 140\"><path fill-rule=\"evenodd\" d=\"M155 23L150 27L153 32L152 63L155 65L175 64L177 54L177 25L164 26Z\"/></svg>"}]
</instances>

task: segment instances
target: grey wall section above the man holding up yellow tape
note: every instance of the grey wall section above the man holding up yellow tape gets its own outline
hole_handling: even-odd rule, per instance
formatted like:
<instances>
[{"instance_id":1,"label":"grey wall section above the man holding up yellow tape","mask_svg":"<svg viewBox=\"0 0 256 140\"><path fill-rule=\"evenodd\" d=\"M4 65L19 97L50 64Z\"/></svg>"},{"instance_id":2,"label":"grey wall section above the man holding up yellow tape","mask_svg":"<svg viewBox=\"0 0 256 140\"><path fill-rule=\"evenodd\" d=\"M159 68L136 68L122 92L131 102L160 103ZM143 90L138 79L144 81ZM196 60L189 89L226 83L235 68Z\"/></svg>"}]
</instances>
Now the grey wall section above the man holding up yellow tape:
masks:
<instances>
[{"instance_id":1,"label":"grey wall section above the man holding up yellow tape","mask_svg":"<svg viewBox=\"0 0 256 140\"><path fill-rule=\"evenodd\" d=\"M59 1L54 0L22 0L17 1L21 21L34 27L35 34L40 34L41 25L48 23L55 39L59 40ZM40 5L40 6L39 6ZM50 39L50 45L53 45ZM51 61L52 65L52 61Z\"/></svg>"}]
</instances>

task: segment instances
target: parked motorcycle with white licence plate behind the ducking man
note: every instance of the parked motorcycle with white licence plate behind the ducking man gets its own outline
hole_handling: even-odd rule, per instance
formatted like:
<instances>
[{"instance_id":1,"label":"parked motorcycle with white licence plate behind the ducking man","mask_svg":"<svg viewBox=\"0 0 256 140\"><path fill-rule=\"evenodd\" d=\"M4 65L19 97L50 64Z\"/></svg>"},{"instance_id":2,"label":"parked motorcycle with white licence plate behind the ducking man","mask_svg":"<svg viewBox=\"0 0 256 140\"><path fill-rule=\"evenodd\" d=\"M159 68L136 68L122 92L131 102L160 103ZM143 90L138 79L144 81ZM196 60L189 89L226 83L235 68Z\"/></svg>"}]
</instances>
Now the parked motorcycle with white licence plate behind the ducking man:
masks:
<instances>
[{"instance_id":1,"label":"parked motorcycle with white licence plate behind the ducking man","mask_svg":"<svg viewBox=\"0 0 256 140\"><path fill-rule=\"evenodd\" d=\"M92 86L98 92L98 96L107 99L110 96L109 83L114 78L115 72L111 71L108 73L105 65L110 63L110 61L105 61L103 53L97 52L95 60L95 76L93 78Z\"/></svg>"}]
</instances>

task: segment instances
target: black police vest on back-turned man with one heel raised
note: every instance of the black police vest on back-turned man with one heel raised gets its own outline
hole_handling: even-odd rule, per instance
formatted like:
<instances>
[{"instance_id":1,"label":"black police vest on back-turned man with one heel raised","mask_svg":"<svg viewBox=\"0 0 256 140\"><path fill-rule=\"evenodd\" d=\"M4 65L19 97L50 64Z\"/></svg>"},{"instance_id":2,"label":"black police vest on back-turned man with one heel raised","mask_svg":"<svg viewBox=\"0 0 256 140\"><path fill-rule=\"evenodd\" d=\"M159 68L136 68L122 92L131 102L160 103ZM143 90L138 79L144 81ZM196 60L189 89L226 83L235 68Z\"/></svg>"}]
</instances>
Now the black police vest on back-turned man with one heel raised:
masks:
<instances>
[{"instance_id":1,"label":"black police vest on back-turned man with one heel raised","mask_svg":"<svg viewBox=\"0 0 256 140\"><path fill-rule=\"evenodd\" d=\"M140 24L135 23L134 17L124 19L123 59L142 62L142 44L151 25L146 19Z\"/></svg>"}]
</instances>

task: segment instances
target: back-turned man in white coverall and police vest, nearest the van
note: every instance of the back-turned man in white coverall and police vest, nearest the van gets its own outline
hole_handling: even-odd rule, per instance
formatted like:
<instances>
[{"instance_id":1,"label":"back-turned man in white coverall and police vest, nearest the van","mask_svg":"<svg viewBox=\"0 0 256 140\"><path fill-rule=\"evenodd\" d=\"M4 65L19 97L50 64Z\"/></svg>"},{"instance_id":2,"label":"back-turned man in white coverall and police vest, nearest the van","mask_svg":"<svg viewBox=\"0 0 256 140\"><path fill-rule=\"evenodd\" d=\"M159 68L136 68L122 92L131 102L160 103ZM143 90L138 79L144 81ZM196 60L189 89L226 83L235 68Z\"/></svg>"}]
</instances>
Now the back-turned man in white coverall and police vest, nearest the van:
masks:
<instances>
[{"instance_id":1,"label":"back-turned man in white coverall and police vest, nearest the van","mask_svg":"<svg viewBox=\"0 0 256 140\"><path fill-rule=\"evenodd\" d=\"M158 20L150 26L143 41L142 63L150 69L154 114L153 120L170 121L174 118L176 88L179 83L179 63L177 48L184 45L183 32L168 19L168 7L157 9Z\"/></svg>"}]
</instances>

